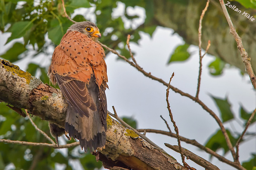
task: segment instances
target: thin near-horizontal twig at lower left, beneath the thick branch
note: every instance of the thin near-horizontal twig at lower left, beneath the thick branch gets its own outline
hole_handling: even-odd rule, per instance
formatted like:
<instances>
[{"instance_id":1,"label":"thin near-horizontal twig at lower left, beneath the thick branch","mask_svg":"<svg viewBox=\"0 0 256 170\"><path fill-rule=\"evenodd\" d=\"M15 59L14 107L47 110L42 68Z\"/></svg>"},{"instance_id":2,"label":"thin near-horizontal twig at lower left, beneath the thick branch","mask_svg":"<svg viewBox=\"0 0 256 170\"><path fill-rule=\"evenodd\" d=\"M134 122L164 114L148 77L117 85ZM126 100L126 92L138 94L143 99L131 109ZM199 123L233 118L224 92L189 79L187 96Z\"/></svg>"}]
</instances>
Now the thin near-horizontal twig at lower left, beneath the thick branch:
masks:
<instances>
[{"instance_id":1,"label":"thin near-horizontal twig at lower left, beneath the thick branch","mask_svg":"<svg viewBox=\"0 0 256 170\"><path fill-rule=\"evenodd\" d=\"M0 142L3 143L12 143L12 144L21 144L21 145L31 145L31 146L40 146L40 147L52 147L52 148L69 148L79 145L79 142L73 142L71 144L49 144L49 143L36 143L36 142L25 142L25 141L19 141L19 140L6 140L6 139L0 139Z\"/></svg>"}]
</instances>

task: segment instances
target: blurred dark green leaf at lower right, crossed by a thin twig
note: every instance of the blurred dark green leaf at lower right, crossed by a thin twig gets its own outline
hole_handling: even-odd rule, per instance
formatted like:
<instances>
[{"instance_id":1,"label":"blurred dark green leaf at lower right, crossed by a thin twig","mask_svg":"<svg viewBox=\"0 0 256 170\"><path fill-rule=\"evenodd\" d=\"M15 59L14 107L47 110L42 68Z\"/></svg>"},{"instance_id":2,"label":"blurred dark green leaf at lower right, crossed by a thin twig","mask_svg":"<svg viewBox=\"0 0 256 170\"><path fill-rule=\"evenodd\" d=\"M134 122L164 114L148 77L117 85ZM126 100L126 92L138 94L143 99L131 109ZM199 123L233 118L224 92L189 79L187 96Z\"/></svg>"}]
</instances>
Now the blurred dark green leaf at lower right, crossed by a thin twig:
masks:
<instances>
[{"instance_id":1,"label":"blurred dark green leaf at lower right, crossed by a thin twig","mask_svg":"<svg viewBox=\"0 0 256 170\"><path fill-rule=\"evenodd\" d=\"M237 139L231 135L229 130L226 131L228 133L228 137L230 138L232 145L234 146L235 143L237 142ZM210 137L208 142L205 144L205 147L208 147L213 151L217 151L218 149L222 148L224 149L224 154L226 154L229 151L227 142L221 130L218 130L215 134L213 134Z\"/></svg>"}]
</instances>

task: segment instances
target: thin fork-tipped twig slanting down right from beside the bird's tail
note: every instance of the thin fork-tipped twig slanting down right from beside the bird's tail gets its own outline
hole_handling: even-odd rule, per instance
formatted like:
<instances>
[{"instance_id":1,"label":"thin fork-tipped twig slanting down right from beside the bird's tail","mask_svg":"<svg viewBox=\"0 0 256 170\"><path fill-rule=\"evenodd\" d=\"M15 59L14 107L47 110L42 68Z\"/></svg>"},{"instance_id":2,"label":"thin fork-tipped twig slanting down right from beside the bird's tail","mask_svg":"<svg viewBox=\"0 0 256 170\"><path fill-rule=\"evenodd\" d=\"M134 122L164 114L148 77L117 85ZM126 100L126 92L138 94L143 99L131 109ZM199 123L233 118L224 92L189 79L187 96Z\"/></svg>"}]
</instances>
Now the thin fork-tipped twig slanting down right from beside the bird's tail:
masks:
<instances>
[{"instance_id":1,"label":"thin fork-tipped twig slanting down right from beside the bird's tail","mask_svg":"<svg viewBox=\"0 0 256 170\"><path fill-rule=\"evenodd\" d=\"M149 138L147 138L145 135L139 133L136 129L132 128L130 125L128 125L125 121L123 121L121 118L119 118L119 116L116 113L116 109L114 106L112 106L113 110L114 110L114 114L112 114L111 112L107 111L107 113L114 117L115 119L117 119L123 126L125 126L126 128L129 128L131 130L133 130L135 133L137 133L137 135L139 135L142 139L144 139L145 141L147 141L148 143L152 144L154 147L160 149L162 152L166 153L166 151L164 151L164 149L162 149L161 147L159 147L158 145L156 145L154 142L152 142ZM167 153L166 153L167 154Z\"/></svg>"}]
</instances>

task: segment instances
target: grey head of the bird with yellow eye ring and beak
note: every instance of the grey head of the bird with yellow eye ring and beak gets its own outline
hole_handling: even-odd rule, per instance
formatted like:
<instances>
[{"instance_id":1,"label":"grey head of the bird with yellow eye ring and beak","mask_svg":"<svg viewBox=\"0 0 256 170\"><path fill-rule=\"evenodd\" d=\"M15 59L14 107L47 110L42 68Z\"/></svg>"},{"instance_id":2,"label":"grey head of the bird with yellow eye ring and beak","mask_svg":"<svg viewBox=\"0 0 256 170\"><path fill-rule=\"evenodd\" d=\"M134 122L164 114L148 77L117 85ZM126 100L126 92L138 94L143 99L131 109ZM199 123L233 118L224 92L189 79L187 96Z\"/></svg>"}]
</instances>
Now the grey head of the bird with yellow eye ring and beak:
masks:
<instances>
[{"instance_id":1,"label":"grey head of the bird with yellow eye ring and beak","mask_svg":"<svg viewBox=\"0 0 256 170\"><path fill-rule=\"evenodd\" d=\"M101 37L99 28L90 21L82 21L74 23L72 26L69 27L67 31L79 31L85 35L88 35L89 38L96 41L98 38Z\"/></svg>"}]
</instances>

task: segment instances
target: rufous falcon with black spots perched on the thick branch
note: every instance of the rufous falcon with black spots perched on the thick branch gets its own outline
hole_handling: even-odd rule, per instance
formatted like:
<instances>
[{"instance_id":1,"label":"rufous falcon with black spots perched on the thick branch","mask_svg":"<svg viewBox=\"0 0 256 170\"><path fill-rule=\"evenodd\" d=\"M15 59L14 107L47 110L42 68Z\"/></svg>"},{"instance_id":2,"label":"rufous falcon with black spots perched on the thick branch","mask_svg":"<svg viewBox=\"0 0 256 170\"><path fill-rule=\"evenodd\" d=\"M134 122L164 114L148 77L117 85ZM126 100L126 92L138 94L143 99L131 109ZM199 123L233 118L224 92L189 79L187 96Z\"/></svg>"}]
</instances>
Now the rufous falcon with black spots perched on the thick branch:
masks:
<instances>
[{"instance_id":1,"label":"rufous falcon with black spots perched on the thick branch","mask_svg":"<svg viewBox=\"0 0 256 170\"><path fill-rule=\"evenodd\" d=\"M66 137L78 139L85 152L102 150L106 144L105 90L109 87L105 51L98 43L100 38L95 23L74 23L55 48L47 72L50 82L58 84L68 103L63 131ZM54 137L63 134L62 130L51 127Z\"/></svg>"}]
</instances>

